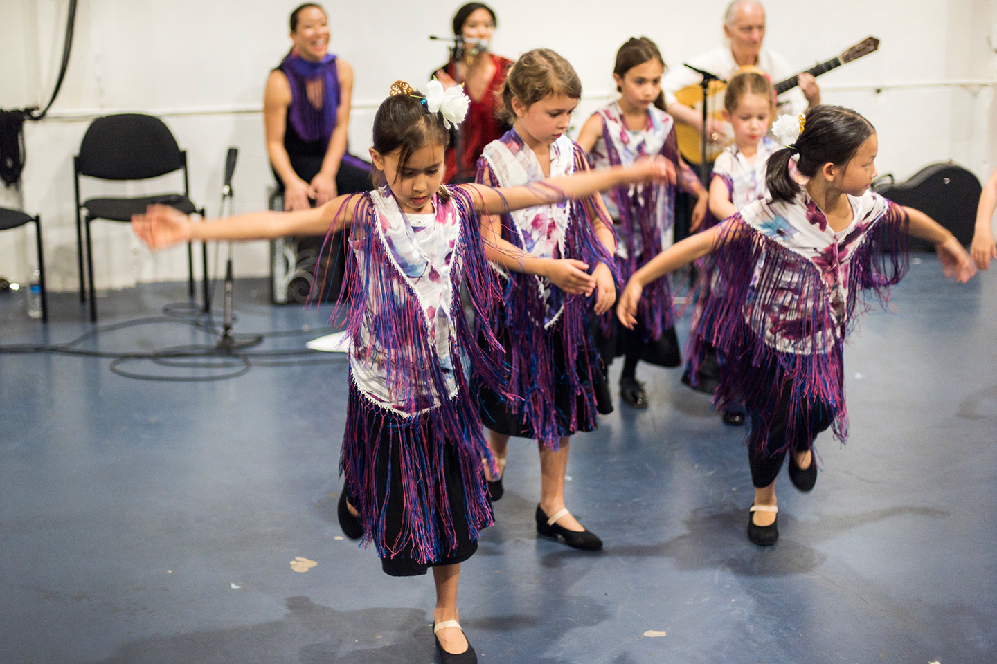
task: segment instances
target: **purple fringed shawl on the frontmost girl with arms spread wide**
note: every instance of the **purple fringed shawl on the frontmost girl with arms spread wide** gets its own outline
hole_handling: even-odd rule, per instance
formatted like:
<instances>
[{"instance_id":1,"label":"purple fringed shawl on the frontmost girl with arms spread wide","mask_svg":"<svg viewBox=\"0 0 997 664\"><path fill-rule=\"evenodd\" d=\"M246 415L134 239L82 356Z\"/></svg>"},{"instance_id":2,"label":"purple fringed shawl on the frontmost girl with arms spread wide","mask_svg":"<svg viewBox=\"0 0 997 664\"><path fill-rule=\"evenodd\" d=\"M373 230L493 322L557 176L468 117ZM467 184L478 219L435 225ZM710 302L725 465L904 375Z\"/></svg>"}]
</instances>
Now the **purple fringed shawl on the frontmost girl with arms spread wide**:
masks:
<instances>
[{"instance_id":1,"label":"purple fringed shawl on the frontmost girl with arms spread wide","mask_svg":"<svg viewBox=\"0 0 997 664\"><path fill-rule=\"evenodd\" d=\"M453 254L448 258L452 295L443 323L443 314L428 320L414 286L421 277L406 275L387 245L386 225L398 222L379 214L373 198L381 196L381 204L385 199L394 203L387 188L351 199L356 207L352 251L347 256L348 288L344 291L356 295L347 305L338 305L347 307L346 330L351 338L351 399L340 468L361 516L364 543L373 541L382 557L413 551L420 563L439 559L457 546L454 508L444 483L447 446L456 446L460 456L466 496L463 512L472 539L493 523L482 460L494 465L494 459L482 435L465 364L470 364L479 379L499 390L502 348L488 326L480 331L487 349L479 347L464 315L460 287L467 285L476 316L488 321L498 298L498 284L485 258L472 194L460 187L448 187L448 191L449 200L434 197L438 216L456 215L460 224L456 241L449 248ZM399 217L405 219L404 215ZM433 343L430 327L439 331L447 324L450 357L444 358ZM379 403L359 388L353 379L356 362L378 362L386 367L385 384L393 404ZM447 366L454 370L448 371ZM445 375L448 372L452 375ZM448 383L456 383L457 389L452 390ZM386 429L390 437L382 437ZM385 440L398 445L401 468L382 468L382 476L400 476L405 492L403 528L390 542L385 538L387 496L379 497L377 489L378 445ZM386 458L393 457L389 454ZM390 483L387 491L391 491Z\"/></svg>"}]
</instances>

